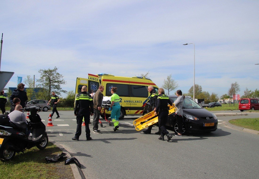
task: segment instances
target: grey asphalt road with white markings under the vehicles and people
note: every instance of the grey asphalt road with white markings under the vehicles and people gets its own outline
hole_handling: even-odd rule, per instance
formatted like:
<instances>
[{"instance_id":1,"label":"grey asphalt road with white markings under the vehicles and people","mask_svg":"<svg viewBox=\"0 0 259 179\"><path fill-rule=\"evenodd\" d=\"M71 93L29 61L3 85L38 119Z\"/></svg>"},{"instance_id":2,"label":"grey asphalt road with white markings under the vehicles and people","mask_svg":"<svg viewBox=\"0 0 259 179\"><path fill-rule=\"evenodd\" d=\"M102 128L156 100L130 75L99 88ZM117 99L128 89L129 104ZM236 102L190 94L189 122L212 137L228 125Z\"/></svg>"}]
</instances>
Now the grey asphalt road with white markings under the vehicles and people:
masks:
<instances>
[{"instance_id":1,"label":"grey asphalt road with white markings under the vehicles and people","mask_svg":"<svg viewBox=\"0 0 259 179\"><path fill-rule=\"evenodd\" d=\"M39 113L46 125L49 113ZM136 131L132 122L138 117L127 116L119 121L119 131L105 121L99 126L102 134L91 131L93 140L86 141L83 132L80 141L72 141L76 118L73 111L60 111L47 133L50 141L62 144L81 162L86 178L258 178L259 135L223 124L230 118L258 115L218 117L217 131L173 136L171 142L158 140L158 127L152 134Z\"/></svg>"}]
</instances>

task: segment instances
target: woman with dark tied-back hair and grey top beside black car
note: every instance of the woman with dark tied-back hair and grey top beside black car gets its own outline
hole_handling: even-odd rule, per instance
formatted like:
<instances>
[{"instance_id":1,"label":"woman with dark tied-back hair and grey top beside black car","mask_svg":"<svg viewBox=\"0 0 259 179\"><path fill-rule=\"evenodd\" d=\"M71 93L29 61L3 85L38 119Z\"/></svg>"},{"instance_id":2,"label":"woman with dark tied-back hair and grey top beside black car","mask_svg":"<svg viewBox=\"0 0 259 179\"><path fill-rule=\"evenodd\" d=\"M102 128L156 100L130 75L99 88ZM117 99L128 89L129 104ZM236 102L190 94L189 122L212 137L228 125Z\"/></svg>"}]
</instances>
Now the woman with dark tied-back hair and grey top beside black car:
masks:
<instances>
[{"instance_id":1,"label":"woman with dark tied-back hair and grey top beside black car","mask_svg":"<svg viewBox=\"0 0 259 179\"><path fill-rule=\"evenodd\" d=\"M181 90L176 91L177 99L175 100L174 104L177 108L176 110L176 123L178 126L178 134L175 136L182 136L183 133L183 100L185 96L183 96L183 93Z\"/></svg>"}]
</instances>

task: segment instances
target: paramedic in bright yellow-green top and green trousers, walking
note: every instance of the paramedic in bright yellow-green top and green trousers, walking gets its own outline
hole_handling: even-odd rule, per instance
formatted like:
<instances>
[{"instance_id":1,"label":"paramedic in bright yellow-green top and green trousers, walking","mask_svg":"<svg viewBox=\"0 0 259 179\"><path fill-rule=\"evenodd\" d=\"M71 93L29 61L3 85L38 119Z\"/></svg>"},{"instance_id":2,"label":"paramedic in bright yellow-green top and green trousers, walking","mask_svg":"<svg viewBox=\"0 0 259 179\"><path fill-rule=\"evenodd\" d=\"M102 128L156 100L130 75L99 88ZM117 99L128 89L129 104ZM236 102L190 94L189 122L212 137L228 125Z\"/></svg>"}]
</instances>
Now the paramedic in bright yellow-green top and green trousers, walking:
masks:
<instances>
[{"instance_id":1,"label":"paramedic in bright yellow-green top and green trousers, walking","mask_svg":"<svg viewBox=\"0 0 259 179\"><path fill-rule=\"evenodd\" d=\"M109 111L111 111L111 119L114 125L113 130L117 131L119 128L119 117L120 117L120 97L116 94L117 87L112 87L111 89L111 107Z\"/></svg>"}]
</instances>

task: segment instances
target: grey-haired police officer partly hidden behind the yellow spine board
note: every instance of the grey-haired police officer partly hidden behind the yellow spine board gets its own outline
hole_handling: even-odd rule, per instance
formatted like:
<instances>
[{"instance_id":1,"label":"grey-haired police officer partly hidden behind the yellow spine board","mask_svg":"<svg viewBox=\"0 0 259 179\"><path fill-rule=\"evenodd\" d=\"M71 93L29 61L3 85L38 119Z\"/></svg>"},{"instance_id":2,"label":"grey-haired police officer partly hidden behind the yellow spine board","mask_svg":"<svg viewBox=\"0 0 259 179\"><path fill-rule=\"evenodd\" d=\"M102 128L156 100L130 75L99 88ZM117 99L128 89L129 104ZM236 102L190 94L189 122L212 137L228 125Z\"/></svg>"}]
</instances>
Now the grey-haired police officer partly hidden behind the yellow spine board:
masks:
<instances>
[{"instance_id":1,"label":"grey-haired police officer partly hidden behind the yellow spine board","mask_svg":"<svg viewBox=\"0 0 259 179\"><path fill-rule=\"evenodd\" d=\"M158 96L158 93L157 93L157 91L154 89L153 86L149 86L149 87L147 88L147 90L148 90L148 92L150 93L150 96L149 96L149 97L150 97L150 98L149 98L149 103L150 103L150 105L152 106L152 110L151 110L151 111L155 111L155 110L156 110L156 104L157 104L157 96ZM151 111L148 111L148 112L151 112ZM149 126L147 130L143 131L143 133L145 133L145 134L151 134L151 129L152 129L153 126L154 126L154 125ZM160 129L160 127L159 127L159 131L156 132L155 134L160 135L160 133L161 133L161 129Z\"/></svg>"}]
</instances>

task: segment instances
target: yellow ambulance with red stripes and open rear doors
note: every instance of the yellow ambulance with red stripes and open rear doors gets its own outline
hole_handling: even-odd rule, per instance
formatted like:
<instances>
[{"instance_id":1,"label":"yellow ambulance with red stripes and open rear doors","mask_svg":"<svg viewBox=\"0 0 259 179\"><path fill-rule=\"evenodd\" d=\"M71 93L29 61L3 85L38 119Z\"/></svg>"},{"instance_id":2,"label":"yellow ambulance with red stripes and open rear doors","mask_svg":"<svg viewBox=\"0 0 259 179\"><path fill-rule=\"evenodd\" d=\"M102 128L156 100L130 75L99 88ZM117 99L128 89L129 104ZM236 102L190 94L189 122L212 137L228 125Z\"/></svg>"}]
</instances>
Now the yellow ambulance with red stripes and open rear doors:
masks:
<instances>
[{"instance_id":1,"label":"yellow ambulance with red stripes and open rear doors","mask_svg":"<svg viewBox=\"0 0 259 179\"><path fill-rule=\"evenodd\" d=\"M88 91L91 93L96 92L100 84L104 86L104 96L111 96L111 88L117 87L116 94L120 96L121 105L120 119L125 115L143 115L144 106L149 99L147 87L153 86L155 90L158 89L152 80L145 77L120 77L101 73L88 74L88 79L77 78L76 95L81 92L83 85L88 86ZM107 115L109 114L110 111L107 112Z\"/></svg>"}]
</instances>

